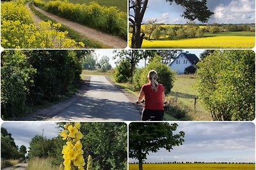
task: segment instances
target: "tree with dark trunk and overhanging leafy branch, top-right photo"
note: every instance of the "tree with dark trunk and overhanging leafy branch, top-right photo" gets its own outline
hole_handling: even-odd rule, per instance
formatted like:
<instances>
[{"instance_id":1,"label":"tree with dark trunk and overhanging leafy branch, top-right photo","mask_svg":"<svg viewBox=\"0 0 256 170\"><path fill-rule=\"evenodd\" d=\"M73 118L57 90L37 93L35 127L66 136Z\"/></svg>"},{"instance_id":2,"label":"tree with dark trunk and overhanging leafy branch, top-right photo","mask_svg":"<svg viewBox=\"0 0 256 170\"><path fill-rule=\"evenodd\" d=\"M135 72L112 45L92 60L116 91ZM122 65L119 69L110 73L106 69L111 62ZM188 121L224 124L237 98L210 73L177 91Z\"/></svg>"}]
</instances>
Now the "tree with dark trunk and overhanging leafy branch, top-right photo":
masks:
<instances>
[{"instance_id":1,"label":"tree with dark trunk and overhanging leafy branch, top-right photo","mask_svg":"<svg viewBox=\"0 0 256 170\"><path fill-rule=\"evenodd\" d=\"M166 2L170 4L175 2L185 8L182 17L188 18L189 20L198 19L200 22L207 22L209 17L213 14L208 10L206 0L166 0ZM129 0L129 11L134 11L134 15L129 15L129 21L132 23L133 28L132 48L141 48L143 36L145 36L145 34L141 34L141 22L147 9L147 4L148 0Z\"/></svg>"}]
</instances>

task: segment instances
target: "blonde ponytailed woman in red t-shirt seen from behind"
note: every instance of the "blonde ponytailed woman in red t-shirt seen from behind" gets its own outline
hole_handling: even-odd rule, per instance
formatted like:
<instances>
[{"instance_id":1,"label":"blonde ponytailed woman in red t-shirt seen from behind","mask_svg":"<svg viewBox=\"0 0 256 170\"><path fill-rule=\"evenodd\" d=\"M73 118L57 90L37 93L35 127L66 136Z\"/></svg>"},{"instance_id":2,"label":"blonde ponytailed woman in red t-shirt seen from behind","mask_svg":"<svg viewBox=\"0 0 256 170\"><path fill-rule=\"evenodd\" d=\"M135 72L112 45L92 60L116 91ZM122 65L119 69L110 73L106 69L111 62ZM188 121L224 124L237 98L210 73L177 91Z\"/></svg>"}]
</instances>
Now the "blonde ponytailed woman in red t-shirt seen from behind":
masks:
<instances>
[{"instance_id":1,"label":"blonde ponytailed woman in red t-shirt seen from behind","mask_svg":"<svg viewBox=\"0 0 256 170\"><path fill-rule=\"evenodd\" d=\"M148 72L148 83L143 85L136 103L141 103L145 97L145 105L142 111L141 120L146 121L154 117L154 120L161 121L164 117L164 87L156 81L157 73L154 70Z\"/></svg>"}]
</instances>

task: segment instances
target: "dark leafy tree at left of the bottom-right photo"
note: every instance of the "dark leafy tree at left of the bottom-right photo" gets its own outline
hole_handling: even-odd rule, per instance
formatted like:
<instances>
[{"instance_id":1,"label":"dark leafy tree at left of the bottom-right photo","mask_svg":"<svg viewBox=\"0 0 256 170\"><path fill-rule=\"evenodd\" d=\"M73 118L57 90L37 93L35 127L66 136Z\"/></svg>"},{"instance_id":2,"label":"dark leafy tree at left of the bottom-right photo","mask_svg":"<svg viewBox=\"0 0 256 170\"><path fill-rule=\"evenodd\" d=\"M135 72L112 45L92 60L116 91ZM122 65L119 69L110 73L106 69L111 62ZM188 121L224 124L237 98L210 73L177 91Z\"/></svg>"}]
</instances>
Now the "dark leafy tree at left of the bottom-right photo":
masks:
<instances>
[{"instance_id":1,"label":"dark leafy tree at left of the bottom-right photo","mask_svg":"<svg viewBox=\"0 0 256 170\"><path fill-rule=\"evenodd\" d=\"M157 152L165 148L170 152L173 146L182 145L185 133L174 134L178 124L161 123L131 123L129 125L129 157L139 160L142 170L143 160L149 152Z\"/></svg>"}]
</instances>

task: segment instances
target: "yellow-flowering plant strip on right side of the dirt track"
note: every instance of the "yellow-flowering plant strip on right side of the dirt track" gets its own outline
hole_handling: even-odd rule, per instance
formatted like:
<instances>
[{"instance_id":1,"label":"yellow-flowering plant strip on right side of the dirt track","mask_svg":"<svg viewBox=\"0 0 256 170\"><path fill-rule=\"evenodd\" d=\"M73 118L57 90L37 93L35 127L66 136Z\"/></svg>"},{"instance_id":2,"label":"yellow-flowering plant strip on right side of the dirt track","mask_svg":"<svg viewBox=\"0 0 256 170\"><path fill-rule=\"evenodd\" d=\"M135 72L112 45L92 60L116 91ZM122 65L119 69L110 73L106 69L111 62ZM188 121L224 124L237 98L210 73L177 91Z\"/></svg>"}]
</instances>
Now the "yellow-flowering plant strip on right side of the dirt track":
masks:
<instances>
[{"instance_id":1,"label":"yellow-flowering plant strip on right side of the dirt track","mask_svg":"<svg viewBox=\"0 0 256 170\"><path fill-rule=\"evenodd\" d=\"M42 6L38 0L35 1L35 4ZM45 8L47 11L68 20L74 20L83 25L127 38L127 14L114 6L106 8L95 2L86 5L49 1L45 4Z\"/></svg>"}]
</instances>

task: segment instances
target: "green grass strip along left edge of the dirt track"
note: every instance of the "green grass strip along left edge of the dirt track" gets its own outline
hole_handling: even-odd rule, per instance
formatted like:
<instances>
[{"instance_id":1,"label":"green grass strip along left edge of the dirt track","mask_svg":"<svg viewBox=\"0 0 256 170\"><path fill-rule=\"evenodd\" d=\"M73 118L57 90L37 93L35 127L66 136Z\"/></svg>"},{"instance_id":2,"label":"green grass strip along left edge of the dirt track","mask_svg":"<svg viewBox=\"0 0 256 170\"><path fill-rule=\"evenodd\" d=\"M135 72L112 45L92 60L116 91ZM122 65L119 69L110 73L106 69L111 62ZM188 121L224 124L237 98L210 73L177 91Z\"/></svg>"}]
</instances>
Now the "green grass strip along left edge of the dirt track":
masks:
<instances>
[{"instance_id":1,"label":"green grass strip along left edge of the dirt track","mask_svg":"<svg viewBox=\"0 0 256 170\"><path fill-rule=\"evenodd\" d=\"M51 18L47 17L46 15L40 13L38 10L34 8L32 5L33 2L29 3L29 8L35 15L37 15L39 18L47 22L48 20L51 20L52 23L56 24L55 20L52 20ZM93 41L92 39L88 39L85 36L82 36L79 34L79 32L76 32L69 27L66 27L65 25L61 24L60 31L67 31L68 32L68 37L74 39L76 42L83 42L85 45L85 48L109 48L109 46L103 45L102 43L99 43L97 41Z\"/></svg>"}]
</instances>

